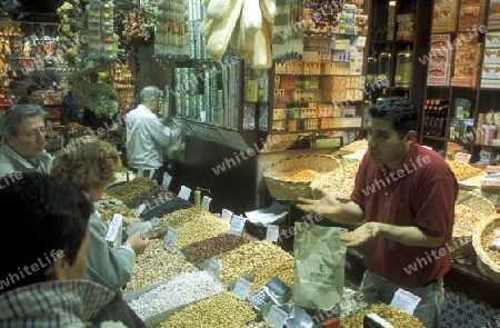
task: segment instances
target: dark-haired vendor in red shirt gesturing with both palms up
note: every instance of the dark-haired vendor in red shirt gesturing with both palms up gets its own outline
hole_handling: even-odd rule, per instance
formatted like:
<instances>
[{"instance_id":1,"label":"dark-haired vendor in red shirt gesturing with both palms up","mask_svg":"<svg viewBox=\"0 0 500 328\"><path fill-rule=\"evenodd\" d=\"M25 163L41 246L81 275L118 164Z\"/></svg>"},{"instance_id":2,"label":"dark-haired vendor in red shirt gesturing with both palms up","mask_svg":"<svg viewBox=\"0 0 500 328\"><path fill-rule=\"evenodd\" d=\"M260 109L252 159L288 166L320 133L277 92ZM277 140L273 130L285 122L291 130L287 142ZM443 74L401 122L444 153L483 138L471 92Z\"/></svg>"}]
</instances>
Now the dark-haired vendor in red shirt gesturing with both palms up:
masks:
<instances>
[{"instance_id":1,"label":"dark-haired vendor in red shirt gesturing with both palms up","mask_svg":"<svg viewBox=\"0 0 500 328\"><path fill-rule=\"evenodd\" d=\"M417 112L407 99L371 106L352 201L324 195L300 199L298 207L331 221L362 223L340 237L347 246L364 243L360 290L387 304L398 289L410 291L421 298L413 315L429 328L439 327L458 183L441 156L414 142L416 128Z\"/></svg>"}]
</instances>

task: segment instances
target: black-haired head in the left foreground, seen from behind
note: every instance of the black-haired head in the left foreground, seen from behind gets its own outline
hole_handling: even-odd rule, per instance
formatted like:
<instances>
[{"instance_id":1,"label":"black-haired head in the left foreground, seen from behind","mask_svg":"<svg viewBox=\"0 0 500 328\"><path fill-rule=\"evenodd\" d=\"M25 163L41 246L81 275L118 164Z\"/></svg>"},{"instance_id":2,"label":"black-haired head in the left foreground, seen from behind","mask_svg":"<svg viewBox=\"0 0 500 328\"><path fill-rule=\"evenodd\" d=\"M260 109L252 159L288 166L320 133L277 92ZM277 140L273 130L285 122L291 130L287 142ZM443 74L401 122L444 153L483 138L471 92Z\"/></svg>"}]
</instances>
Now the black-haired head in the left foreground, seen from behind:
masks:
<instances>
[{"instance_id":1,"label":"black-haired head in the left foreground, seen from behind","mask_svg":"<svg viewBox=\"0 0 500 328\"><path fill-rule=\"evenodd\" d=\"M4 231L0 294L47 280L81 278L92 203L70 183L46 175L17 172L0 180L9 181L0 188Z\"/></svg>"}]
</instances>

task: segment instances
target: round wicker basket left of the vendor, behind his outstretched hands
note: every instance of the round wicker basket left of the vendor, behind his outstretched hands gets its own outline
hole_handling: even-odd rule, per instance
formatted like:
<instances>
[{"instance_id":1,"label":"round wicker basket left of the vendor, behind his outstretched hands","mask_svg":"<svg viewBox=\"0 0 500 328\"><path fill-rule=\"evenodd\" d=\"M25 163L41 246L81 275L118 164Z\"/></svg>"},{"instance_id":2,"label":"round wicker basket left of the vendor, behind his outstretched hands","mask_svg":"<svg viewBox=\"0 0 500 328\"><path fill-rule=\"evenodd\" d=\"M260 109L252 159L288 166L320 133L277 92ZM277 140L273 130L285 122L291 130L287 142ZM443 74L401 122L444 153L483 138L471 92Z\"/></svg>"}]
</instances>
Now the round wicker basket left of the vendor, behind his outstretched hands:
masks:
<instances>
[{"instance_id":1,"label":"round wicker basket left of the vendor, behind his outstretched hands","mask_svg":"<svg viewBox=\"0 0 500 328\"><path fill-rule=\"evenodd\" d=\"M311 182L320 173L327 173L340 168L337 159L328 155L307 155L292 157L270 165L263 171L263 178L269 192L277 200L296 201L299 197L311 198ZM288 172L297 173L298 170L314 171L318 175L310 179L287 179ZM309 175L308 175L309 176Z\"/></svg>"}]
</instances>

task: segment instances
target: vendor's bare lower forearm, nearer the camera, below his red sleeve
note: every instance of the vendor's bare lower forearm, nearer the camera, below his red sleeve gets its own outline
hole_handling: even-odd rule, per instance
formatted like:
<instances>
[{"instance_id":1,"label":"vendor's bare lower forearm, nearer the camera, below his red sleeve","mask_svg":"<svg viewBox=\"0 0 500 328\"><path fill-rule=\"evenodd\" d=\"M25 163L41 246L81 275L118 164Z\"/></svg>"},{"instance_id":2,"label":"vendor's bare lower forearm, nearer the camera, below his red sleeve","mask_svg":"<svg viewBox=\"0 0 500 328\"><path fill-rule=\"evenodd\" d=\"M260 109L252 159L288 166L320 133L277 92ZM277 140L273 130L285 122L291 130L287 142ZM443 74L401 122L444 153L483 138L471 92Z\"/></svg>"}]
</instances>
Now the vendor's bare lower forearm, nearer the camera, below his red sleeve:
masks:
<instances>
[{"instance_id":1,"label":"vendor's bare lower forearm, nearer the camera, below his red sleeve","mask_svg":"<svg viewBox=\"0 0 500 328\"><path fill-rule=\"evenodd\" d=\"M379 223L378 236L384 237L402 245L434 248L442 243L442 237L429 237L417 227L400 227L388 223Z\"/></svg>"}]
</instances>

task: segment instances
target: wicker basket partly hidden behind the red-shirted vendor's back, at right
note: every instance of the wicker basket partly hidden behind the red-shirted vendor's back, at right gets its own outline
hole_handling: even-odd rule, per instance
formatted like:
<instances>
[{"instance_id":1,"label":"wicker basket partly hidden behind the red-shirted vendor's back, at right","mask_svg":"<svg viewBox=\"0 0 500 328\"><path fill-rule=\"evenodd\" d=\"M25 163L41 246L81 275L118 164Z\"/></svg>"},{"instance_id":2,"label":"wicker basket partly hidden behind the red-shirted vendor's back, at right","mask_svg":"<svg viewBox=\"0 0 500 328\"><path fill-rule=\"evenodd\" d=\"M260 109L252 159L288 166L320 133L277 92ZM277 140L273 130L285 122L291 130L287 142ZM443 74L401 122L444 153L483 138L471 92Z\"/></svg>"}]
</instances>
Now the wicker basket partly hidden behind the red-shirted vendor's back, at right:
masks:
<instances>
[{"instance_id":1,"label":"wicker basket partly hidden behind the red-shirted vendor's back, at right","mask_svg":"<svg viewBox=\"0 0 500 328\"><path fill-rule=\"evenodd\" d=\"M474 222L470 222L470 233L452 236L452 259L466 258L474 254L472 246L473 227L496 213L494 206L490 200L471 191L460 190L456 202L456 206L458 205L468 207L477 215L477 219Z\"/></svg>"}]
</instances>

